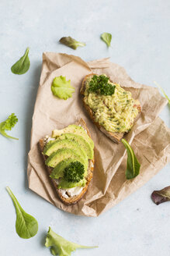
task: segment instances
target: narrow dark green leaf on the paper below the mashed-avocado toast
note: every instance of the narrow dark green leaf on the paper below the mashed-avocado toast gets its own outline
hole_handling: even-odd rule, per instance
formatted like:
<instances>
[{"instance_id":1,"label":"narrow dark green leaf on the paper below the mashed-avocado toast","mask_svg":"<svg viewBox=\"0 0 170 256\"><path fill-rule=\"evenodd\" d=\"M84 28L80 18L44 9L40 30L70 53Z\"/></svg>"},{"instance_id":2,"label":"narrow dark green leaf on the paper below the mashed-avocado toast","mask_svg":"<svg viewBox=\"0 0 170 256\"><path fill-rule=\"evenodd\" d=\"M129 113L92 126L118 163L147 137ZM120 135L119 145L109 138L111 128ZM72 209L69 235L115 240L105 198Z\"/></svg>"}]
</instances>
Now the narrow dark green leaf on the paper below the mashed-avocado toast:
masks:
<instances>
[{"instance_id":1,"label":"narrow dark green leaf on the paper below the mashed-avocado toast","mask_svg":"<svg viewBox=\"0 0 170 256\"><path fill-rule=\"evenodd\" d=\"M122 143L127 148L127 180L134 179L139 174L141 164L138 162L136 155L134 155L133 149L127 140L122 139Z\"/></svg>"}]
</instances>

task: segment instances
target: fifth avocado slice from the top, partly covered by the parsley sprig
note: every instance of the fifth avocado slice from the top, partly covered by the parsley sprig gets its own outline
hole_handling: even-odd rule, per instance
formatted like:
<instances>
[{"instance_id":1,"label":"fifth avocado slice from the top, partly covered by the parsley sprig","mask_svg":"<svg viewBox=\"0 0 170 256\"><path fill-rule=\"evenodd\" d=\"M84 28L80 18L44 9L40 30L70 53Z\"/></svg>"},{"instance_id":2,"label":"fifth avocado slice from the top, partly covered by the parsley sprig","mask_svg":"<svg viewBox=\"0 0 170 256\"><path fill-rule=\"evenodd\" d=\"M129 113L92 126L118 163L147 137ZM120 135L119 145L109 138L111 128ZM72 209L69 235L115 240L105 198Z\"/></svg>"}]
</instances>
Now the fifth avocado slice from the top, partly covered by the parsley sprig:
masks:
<instances>
[{"instance_id":1,"label":"fifth avocado slice from the top, partly covered by the parsley sprig","mask_svg":"<svg viewBox=\"0 0 170 256\"><path fill-rule=\"evenodd\" d=\"M50 178L52 179L59 179L62 178L64 175L64 169L71 163L71 162L75 162L75 161L79 161L79 158L67 158L64 159L63 161L59 162L56 167L53 169L53 171L50 174ZM83 164L83 162L82 162ZM88 172L87 170L85 170L85 176L87 176Z\"/></svg>"}]
</instances>

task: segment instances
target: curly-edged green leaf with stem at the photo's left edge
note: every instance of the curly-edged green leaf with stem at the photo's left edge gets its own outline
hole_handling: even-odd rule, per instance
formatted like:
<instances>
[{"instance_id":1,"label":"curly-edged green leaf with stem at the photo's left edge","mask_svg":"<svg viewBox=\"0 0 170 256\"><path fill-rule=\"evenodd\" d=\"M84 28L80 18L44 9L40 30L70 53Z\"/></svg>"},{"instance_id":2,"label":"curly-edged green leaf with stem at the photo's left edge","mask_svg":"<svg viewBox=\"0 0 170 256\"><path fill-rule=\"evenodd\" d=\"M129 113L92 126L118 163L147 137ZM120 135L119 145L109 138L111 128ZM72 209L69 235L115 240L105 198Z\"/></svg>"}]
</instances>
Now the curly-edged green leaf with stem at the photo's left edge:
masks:
<instances>
[{"instance_id":1,"label":"curly-edged green leaf with stem at the photo's left edge","mask_svg":"<svg viewBox=\"0 0 170 256\"><path fill-rule=\"evenodd\" d=\"M17 122L18 122L18 119L17 119L16 115L14 113L12 113L8 119L6 119L4 122L0 123L0 133L2 133L2 135L4 137L7 137L9 139L18 140L17 138L11 137L5 133L5 130L12 130L12 127L14 127Z\"/></svg>"}]
</instances>

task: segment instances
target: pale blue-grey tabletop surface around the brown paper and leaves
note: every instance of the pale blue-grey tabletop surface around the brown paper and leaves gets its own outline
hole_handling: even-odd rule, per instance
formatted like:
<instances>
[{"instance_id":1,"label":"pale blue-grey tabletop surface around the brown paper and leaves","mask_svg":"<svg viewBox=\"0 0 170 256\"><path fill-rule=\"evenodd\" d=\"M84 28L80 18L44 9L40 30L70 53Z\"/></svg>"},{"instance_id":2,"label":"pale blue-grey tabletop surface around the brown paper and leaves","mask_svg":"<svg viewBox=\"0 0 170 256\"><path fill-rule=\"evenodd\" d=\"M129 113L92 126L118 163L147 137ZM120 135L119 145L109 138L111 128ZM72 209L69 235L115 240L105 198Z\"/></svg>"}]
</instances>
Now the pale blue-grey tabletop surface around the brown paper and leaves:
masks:
<instances>
[{"instance_id":1,"label":"pale blue-grey tabletop surface around the brown paper and leaves","mask_svg":"<svg viewBox=\"0 0 170 256\"><path fill-rule=\"evenodd\" d=\"M99 36L113 34L112 48ZM26 162L33 105L40 79L42 52L66 52L86 61L111 57L137 82L156 80L170 95L169 0L0 1L0 122L12 112L19 123L12 130L19 141L0 137L0 254L50 255L43 246L48 226L68 240L99 245L73 255L168 256L170 203L156 206L152 190L170 185L169 166L144 187L98 218L61 212L28 189ZM86 42L71 50L57 41L72 36ZM17 76L10 67L30 47L29 72ZM170 124L168 106L161 112ZM11 187L26 212L39 222L39 232L23 240L15 231L16 214L6 186Z\"/></svg>"}]
</instances>

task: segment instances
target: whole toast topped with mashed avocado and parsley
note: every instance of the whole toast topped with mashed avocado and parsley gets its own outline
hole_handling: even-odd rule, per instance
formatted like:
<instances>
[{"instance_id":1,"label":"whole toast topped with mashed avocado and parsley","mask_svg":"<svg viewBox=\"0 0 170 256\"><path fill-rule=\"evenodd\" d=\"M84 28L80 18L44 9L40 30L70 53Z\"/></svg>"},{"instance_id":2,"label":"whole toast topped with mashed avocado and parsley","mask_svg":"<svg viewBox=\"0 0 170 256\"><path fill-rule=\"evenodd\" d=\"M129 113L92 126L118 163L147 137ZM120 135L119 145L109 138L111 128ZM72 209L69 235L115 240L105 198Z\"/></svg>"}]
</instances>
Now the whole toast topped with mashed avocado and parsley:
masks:
<instances>
[{"instance_id":1,"label":"whole toast topped with mashed avocado and parsley","mask_svg":"<svg viewBox=\"0 0 170 256\"><path fill-rule=\"evenodd\" d=\"M130 91L113 83L105 74L99 76L91 73L85 76L80 93L93 123L119 144L141 112L140 101L134 100Z\"/></svg>"}]
</instances>

